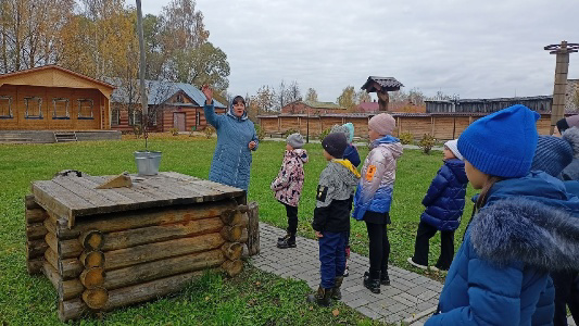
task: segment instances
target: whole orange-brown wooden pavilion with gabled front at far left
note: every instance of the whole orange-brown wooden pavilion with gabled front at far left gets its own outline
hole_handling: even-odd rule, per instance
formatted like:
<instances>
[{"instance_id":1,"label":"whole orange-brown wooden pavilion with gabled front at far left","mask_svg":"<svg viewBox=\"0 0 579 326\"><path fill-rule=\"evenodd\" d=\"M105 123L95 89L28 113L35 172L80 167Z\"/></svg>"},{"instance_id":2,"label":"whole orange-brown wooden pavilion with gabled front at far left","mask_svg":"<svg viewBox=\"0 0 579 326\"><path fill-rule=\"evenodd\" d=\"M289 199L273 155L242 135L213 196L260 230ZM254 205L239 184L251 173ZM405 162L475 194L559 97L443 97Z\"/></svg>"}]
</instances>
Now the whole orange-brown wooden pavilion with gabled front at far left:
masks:
<instances>
[{"instance_id":1,"label":"whole orange-brown wooden pavilion with gabled front at far left","mask_svg":"<svg viewBox=\"0 0 579 326\"><path fill-rule=\"evenodd\" d=\"M113 89L58 65L0 75L0 130L109 130Z\"/></svg>"}]
</instances>

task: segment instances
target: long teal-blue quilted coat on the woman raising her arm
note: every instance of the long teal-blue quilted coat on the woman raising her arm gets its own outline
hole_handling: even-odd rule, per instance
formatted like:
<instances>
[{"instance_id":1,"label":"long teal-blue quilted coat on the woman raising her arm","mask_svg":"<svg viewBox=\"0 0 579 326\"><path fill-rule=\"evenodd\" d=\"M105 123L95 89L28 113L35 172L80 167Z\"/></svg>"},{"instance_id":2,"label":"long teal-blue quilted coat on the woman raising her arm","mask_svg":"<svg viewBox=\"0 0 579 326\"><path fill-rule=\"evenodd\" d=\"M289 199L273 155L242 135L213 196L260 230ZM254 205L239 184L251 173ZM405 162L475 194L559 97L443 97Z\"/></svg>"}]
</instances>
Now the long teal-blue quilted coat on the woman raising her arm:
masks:
<instances>
[{"instance_id":1,"label":"long teal-blue quilted coat on the woman raising her arm","mask_svg":"<svg viewBox=\"0 0 579 326\"><path fill-rule=\"evenodd\" d=\"M209 179L248 191L251 172L250 141L259 145L255 127L247 112L241 117L232 113L232 104L226 114L215 114L213 104L203 106L207 123L217 130L217 145L211 162ZM253 149L257 150L257 146Z\"/></svg>"}]
</instances>

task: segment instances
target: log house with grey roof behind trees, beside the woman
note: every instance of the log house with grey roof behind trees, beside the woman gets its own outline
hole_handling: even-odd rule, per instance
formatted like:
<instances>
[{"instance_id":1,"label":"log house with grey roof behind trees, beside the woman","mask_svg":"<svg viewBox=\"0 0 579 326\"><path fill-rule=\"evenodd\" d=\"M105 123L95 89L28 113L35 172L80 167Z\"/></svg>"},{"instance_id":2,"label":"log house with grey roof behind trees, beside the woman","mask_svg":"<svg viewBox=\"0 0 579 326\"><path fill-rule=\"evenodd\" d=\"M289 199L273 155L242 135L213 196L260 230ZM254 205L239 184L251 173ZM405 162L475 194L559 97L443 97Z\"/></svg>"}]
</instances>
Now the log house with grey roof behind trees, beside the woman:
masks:
<instances>
[{"instance_id":1,"label":"log house with grey roof behind trees, beside the woman","mask_svg":"<svg viewBox=\"0 0 579 326\"><path fill-rule=\"evenodd\" d=\"M142 121L138 80L123 83L111 79L116 87L112 95L111 127L123 133L133 131ZM205 96L190 84L146 80L149 110L149 130L164 133L173 128L179 131L204 129L206 126L203 104ZM227 108L215 101L215 111Z\"/></svg>"}]
</instances>

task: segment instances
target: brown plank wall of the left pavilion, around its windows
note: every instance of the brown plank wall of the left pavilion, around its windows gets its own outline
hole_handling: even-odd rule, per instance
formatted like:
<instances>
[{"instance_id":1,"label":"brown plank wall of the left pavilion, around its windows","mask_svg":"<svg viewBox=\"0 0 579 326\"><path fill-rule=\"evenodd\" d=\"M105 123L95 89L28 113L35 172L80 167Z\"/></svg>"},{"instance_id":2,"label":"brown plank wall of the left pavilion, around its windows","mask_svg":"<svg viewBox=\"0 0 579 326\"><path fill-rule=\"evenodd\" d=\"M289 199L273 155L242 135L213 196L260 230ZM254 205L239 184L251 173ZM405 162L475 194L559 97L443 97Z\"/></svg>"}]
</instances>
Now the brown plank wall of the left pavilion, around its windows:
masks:
<instances>
[{"instance_id":1,"label":"brown plank wall of the left pavilion, around its windows","mask_svg":"<svg viewBox=\"0 0 579 326\"><path fill-rule=\"evenodd\" d=\"M0 117L2 130L98 130L109 129L110 126L109 100L98 89L2 85L0 87L0 98L3 99L0 100L3 105L2 111L7 111L7 97L10 98L12 117L5 116L5 112L0 113L3 115ZM26 116L25 98L28 97L40 99L41 116L38 114L37 104L34 105L36 116ZM67 100L67 104L59 102L58 116L54 116L54 99ZM91 118L78 116L79 99L92 101ZM67 114L64 109L66 106ZM33 108L29 113L33 114Z\"/></svg>"}]
</instances>

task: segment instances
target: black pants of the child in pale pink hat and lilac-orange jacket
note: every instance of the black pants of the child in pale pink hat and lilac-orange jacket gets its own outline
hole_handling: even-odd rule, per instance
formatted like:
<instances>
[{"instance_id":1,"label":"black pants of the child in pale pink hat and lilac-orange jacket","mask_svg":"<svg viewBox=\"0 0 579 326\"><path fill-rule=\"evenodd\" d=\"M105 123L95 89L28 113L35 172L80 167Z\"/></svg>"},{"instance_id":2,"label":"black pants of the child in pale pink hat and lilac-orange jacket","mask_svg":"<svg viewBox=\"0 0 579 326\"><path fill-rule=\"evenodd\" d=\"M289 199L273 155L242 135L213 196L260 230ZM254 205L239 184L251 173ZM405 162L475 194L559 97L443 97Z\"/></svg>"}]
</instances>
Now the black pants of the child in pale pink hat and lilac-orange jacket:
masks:
<instances>
[{"instance_id":1,"label":"black pants of the child in pale pink hat and lilac-orange jacket","mask_svg":"<svg viewBox=\"0 0 579 326\"><path fill-rule=\"evenodd\" d=\"M369 238L370 278L380 278L380 273L388 271L388 256L390 256L390 241L386 224L375 224L366 221Z\"/></svg>"}]
</instances>

